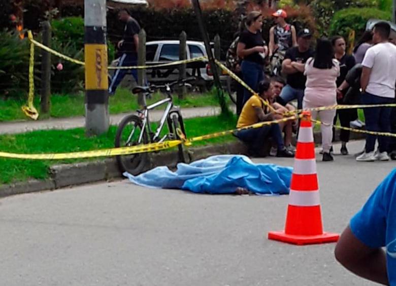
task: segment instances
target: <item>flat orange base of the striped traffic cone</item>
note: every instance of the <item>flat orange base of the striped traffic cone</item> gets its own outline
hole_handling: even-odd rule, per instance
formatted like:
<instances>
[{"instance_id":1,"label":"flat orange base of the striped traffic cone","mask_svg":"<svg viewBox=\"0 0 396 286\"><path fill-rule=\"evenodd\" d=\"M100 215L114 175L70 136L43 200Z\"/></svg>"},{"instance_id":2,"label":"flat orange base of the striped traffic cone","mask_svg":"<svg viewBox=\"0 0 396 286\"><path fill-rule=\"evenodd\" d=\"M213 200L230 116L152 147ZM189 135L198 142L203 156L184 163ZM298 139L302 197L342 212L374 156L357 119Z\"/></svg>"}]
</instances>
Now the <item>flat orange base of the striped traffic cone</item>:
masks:
<instances>
[{"instance_id":1,"label":"flat orange base of the striped traffic cone","mask_svg":"<svg viewBox=\"0 0 396 286\"><path fill-rule=\"evenodd\" d=\"M286 234L284 231L270 231L268 233L268 239L296 244L298 246L337 242L339 238L339 234L327 232L323 232L319 235L292 235Z\"/></svg>"}]
</instances>

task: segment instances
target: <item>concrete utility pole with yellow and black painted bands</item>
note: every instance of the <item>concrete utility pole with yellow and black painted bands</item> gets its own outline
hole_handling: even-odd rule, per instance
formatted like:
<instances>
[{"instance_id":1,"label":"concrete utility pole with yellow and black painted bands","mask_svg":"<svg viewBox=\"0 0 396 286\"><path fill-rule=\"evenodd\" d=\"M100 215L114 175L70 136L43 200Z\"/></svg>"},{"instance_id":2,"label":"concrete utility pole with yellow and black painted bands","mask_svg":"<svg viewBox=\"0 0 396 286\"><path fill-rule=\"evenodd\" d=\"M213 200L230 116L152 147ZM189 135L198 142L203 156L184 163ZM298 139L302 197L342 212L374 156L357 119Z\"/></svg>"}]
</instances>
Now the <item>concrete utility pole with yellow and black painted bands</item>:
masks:
<instances>
[{"instance_id":1,"label":"concrete utility pole with yellow and black painted bands","mask_svg":"<svg viewBox=\"0 0 396 286\"><path fill-rule=\"evenodd\" d=\"M85 130L88 136L109 129L106 0L84 0Z\"/></svg>"}]
</instances>

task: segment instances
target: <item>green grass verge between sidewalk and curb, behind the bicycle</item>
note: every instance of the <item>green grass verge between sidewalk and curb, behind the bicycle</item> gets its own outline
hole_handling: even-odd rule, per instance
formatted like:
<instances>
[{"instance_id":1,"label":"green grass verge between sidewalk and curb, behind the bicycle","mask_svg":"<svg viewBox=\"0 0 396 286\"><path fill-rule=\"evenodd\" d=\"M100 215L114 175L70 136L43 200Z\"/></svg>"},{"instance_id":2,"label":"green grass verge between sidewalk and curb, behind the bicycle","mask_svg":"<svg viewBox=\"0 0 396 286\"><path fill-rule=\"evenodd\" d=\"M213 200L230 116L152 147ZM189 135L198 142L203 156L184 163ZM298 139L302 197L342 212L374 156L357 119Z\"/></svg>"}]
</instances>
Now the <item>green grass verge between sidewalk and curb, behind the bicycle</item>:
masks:
<instances>
[{"instance_id":1,"label":"green grass verge between sidewalk and curb, behind the bicycle","mask_svg":"<svg viewBox=\"0 0 396 286\"><path fill-rule=\"evenodd\" d=\"M234 129L236 117L211 116L185 119L188 137L206 135L214 132ZM82 128L67 131L35 131L17 135L0 136L0 151L14 153L58 153L76 152L94 149L111 148L114 146L116 127L112 126L107 134L87 138ZM235 140L233 136L215 138L194 143L193 146L218 144ZM103 159L103 158L102 158ZM26 181L29 178L46 179L49 167L60 163L88 161L96 159L76 160L20 160L0 158L0 184Z\"/></svg>"}]
</instances>

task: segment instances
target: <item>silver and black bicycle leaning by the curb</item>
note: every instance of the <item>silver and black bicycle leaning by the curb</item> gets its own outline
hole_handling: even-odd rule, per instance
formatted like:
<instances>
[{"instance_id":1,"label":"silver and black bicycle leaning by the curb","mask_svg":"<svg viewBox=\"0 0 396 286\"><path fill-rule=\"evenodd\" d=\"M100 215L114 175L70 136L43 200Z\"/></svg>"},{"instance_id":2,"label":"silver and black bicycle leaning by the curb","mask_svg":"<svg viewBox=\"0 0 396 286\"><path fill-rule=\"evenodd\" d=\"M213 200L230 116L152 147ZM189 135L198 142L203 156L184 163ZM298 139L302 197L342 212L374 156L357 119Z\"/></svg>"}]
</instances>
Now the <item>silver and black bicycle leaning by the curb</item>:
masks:
<instances>
[{"instance_id":1,"label":"silver and black bicycle leaning by the curb","mask_svg":"<svg viewBox=\"0 0 396 286\"><path fill-rule=\"evenodd\" d=\"M183 117L180 108L173 104L173 87L188 86L188 81L195 80L194 77L183 80L173 81L164 85L150 85L148 87L136 87L132 90L133 94L142 93L144 97L143 109L137 110L136 114L126 115L120 121L117 128L114 145L115 147L137 146L148 143L160 143L166 140L181 140L186 136ZM162 99L149 106L146 105L146 97L151 96L156 90L165 90L167 98ZM159 125L156 130L152 129L149 111L158 106L167 104ZM164 125L168 124L168 133L163 134ZM178 132L179 130L179 132ZM180 134L180 131L182 134ZM150 158L148 153L139 153L133 155L117 156L118 166L122 172L128 172L132 175L140 174L148 166ZM183 144L178 145L178 161L186 162L186 156L183 151Z\"/></svg>"}]
</instances>

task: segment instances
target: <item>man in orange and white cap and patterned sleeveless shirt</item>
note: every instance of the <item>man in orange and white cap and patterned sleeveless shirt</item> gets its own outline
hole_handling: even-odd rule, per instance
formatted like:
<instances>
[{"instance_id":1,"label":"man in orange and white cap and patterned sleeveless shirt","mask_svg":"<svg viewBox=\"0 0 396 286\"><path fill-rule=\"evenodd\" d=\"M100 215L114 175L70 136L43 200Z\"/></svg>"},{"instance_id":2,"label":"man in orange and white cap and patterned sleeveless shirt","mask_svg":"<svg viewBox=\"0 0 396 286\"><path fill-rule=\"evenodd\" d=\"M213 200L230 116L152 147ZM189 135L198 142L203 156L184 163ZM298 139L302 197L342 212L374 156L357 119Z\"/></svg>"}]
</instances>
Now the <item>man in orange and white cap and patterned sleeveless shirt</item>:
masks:
<instances>
[{"instance_id":1,"label":"man in orange and white cap and patterned sleeveless shirt","mask_svg":"<svg viewBox=\"0 0 396 286\"><path fill-rule=\"evenodd\" d=\"M295 28L286 22L286 11L280 9L272 16L275 18L276 25L270 29L270 57L274 51L284 56L288 49L297 45Z\"/></svg>"}]
</instances>

